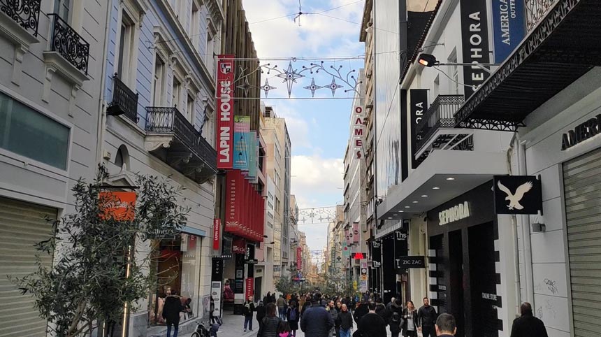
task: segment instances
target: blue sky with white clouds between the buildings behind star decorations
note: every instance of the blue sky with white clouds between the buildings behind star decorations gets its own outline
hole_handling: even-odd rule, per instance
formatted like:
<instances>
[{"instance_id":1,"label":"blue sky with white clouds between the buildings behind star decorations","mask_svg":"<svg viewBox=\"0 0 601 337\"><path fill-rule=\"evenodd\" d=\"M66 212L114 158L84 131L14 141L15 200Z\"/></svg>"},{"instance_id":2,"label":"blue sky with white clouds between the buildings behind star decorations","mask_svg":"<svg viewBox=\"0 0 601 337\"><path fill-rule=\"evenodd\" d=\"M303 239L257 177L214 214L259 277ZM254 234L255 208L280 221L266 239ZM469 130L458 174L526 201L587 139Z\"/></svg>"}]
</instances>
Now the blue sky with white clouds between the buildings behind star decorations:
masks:
<instances>
[{"instance_id":1,"label":"blue sky with white clouds between the buildings behind star decorations","mask_svg":"<svg viewBox=\"0 0 601 337\"><path fill-rule=\"evenodd\" d=\"M303 13L321 13L301 15L300 24L298 19L294 21L294 13L299 12L298 0L243 0L242 4L261 64L277 64L281 71L290 63L298 73L303 66L324 61L328 71L332 71L330 66L342 66L340 73L346 78L348 71L358 72L363 65L363 59L356 56L365 52L359 42L361 25L358 24L364 2L301 0ZM293 57L296 61L291 60ZM270 86L277 87L263 101L273 106L277 117L286 119L292 143L291 193L296 195L303 218L311 208L342 203L342 161L349 138L352 99L326 99L332 97L329 88L317 90L315 97L319 99L275 99L288 96L287 83L277 78L277 73L263 73L262 83L268 79ZM321 86L331 84L333 78L324 71L302 74L305 78L292 83L293 98L311 96L310 90L304 89L311 85L311 78ZM345 85L340 80L336 82ZM344 92L348 88L345 85L337 89L335 97L352 98L352 92ZM307 245L312 250L323 248L328 224L316 218L309 220L306 215L305 219L305 224L299 222L298 228L307 235Z\"/></svg>"}]
</instances>

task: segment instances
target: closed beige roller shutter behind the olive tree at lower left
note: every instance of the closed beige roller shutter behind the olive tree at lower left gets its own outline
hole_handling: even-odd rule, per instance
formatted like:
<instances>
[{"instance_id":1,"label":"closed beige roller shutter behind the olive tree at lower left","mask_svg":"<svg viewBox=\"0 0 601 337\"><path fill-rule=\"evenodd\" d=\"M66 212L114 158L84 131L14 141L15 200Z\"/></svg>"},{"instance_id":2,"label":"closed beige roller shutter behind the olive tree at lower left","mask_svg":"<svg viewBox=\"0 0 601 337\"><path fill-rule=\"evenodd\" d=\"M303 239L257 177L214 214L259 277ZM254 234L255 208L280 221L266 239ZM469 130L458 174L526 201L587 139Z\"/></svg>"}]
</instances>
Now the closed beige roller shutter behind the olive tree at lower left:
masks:
<instances>
[{"instance_id":1,"label":"closed beige roller shutter behind the olive tree at lower left","mask_svg":"<svg viewBox=\"0 0 601 337\"><path fill-rule=\"evenodd\" d=\"M37 270L34 244L46 240L57 210L0 198L0 337L45 337L46 321L38 316L34 299L22 295L8 275L22 277ZM42 254L50 266L52 257Z\"/></svg>"}]
</instances>

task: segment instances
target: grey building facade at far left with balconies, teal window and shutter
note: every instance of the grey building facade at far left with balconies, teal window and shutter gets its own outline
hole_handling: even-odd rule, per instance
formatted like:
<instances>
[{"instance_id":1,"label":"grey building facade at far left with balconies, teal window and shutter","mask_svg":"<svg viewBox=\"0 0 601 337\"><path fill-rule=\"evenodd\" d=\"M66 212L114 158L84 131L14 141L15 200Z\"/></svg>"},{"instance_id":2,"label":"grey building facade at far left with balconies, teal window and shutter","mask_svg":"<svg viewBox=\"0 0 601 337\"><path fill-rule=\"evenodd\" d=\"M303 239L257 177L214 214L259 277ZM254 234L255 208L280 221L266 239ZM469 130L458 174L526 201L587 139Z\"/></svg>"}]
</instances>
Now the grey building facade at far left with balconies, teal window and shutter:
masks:
<instances>
[{"instance_id":1,"label":"grey building facade at far left with balconies, teal window and shutter","mask_svg":"<svg viewBox=\"0 0 601 337\"><path fill-rule=\"evenodd\" d=\"M46 334L34 299L8 276L37 271L34 244L52 235L45 219L73 213L73 185L95 177L108 20L106 1L2 3L0 295L10 310L1 336Z\"/></svg>"}]
</instances>

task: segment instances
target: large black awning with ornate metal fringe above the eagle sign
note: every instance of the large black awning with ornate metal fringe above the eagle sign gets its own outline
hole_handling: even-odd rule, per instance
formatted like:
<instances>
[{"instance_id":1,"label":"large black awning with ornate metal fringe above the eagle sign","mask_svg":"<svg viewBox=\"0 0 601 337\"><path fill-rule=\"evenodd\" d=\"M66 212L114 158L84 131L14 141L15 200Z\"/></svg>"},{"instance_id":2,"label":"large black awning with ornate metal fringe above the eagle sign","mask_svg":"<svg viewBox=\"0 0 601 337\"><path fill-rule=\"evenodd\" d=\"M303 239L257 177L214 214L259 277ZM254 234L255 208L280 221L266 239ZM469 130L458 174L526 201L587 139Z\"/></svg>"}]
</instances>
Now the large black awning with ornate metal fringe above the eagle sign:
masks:
<instances>
[{"instance_id":1,"label":"large black awning with ornate metal fringe above the eagle sign","mask_svg":"<svg viewBox=\"0 0 601 337\"><path fill-rule=\"evenodd\" d=\"M455 114L456 127L516 131L542 103L601 66L601 3L558 0Z\"/></svg>"}]
</instances>

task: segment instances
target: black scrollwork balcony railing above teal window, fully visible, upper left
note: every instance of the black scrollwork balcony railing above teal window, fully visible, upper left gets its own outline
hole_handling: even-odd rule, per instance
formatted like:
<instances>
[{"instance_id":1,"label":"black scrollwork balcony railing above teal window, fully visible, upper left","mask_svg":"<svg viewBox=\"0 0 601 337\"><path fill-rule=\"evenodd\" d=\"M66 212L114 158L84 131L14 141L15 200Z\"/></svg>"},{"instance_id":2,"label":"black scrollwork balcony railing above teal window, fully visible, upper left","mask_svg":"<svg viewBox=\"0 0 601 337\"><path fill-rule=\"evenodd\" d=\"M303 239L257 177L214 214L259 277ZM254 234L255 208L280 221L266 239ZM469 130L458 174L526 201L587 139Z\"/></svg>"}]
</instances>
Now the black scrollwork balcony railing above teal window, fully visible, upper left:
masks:
<instances>
[{"instance_id":1,"label":"black scrollwork balcony railing above teal window, fully visible, upper left","mask_svg":"<svg viewBox=\"0 0 601 337\"><path fill-rule=\"evenodd\" d=\"M48 16L53 17L50 48L87 75L89 43L80 34L77 34L65 20L62 20L58 14L48 14Z\"/></svg>"}]
</instances>

